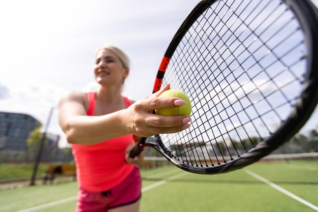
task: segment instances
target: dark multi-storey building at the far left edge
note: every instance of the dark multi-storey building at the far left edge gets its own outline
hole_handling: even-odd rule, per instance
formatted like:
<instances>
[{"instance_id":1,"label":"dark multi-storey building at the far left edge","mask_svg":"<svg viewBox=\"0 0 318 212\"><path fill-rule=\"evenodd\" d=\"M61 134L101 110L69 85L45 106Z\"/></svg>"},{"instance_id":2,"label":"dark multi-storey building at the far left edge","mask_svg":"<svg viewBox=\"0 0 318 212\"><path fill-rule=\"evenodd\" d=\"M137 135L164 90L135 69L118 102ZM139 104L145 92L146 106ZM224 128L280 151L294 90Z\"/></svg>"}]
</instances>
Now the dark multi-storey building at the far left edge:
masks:
<instances>
[{"instance_id":1,"label":"dark multi-storey building at the far left edge","mask_svg":"<svg viewBox=\"0 0 318 212\"><path fill-rule=\"evenodd\" d=\"M0 112L0 150L25 151L30 132L39 121L23 113Z\"/></svg>"}]
</instances>

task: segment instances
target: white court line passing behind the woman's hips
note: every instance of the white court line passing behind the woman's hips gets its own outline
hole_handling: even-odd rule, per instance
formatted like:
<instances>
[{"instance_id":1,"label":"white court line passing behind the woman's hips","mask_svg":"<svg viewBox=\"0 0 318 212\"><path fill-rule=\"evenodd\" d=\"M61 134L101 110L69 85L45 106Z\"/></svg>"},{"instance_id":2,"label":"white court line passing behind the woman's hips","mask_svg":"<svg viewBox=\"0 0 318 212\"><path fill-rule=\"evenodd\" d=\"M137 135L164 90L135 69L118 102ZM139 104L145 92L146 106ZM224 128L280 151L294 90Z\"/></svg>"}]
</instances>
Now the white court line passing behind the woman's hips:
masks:
<instances>
[{"instance_id":1,"label":"white court line passing behind the woman's hips","mask_svg":"<svg viewBox=\"0 0 318 212\"><path fill-rule=\"evenodd\" d=\"M174 176L168 177L167 179L158 181L158 182L156 182L154 184L151 184L149 186L146 186L146 187L142 188L141 192L149 191L150 189L153 189L153 188L156 188L158 186L164 185L167 182L169 182L171 180L174 180L174 179L177 179L179 177L185 176L186 174L189 174L189 173L188 172L182 172L180 174L176 174ZM71 202L71 201L74 201L76 199L77 199L77 196L73 196L73 197L57 200L57 201L54 201L54 202L50 202L50 203L47 203L47 204L39 205L39 206L36 206L36 207L30 207L28 209L20 210L20 211L17 211L17 212L36 211L36 210L44 209L44 208L47 208L47 207L52 207L52 206L55 206L55 205L60 205L60 204L63 204L63 203Z\"/></svg>"}]
</instances>

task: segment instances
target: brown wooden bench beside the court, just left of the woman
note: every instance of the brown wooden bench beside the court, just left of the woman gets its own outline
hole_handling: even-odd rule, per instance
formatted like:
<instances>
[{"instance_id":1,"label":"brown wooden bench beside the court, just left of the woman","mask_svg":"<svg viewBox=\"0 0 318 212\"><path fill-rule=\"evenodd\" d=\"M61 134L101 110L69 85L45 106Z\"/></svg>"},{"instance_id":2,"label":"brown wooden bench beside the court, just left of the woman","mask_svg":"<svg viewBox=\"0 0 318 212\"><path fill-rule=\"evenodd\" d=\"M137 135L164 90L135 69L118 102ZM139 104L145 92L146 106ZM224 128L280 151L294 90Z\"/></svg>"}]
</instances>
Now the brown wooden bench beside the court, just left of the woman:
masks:
<instances>
[{"instance_id":1,"label":"brown wooden bench beside the court, just left of the woman","mask_svg":"<svg viewBox=\"0 0 318 212\"><path fill-rule=\"evenodd\" d=\"M76 165L75 164L52 164L48 167L48 170L43 174L43 184L50 180L53 184L56 176L73 176L73 180L76 179Z\"/></svg>"}]
</instances>

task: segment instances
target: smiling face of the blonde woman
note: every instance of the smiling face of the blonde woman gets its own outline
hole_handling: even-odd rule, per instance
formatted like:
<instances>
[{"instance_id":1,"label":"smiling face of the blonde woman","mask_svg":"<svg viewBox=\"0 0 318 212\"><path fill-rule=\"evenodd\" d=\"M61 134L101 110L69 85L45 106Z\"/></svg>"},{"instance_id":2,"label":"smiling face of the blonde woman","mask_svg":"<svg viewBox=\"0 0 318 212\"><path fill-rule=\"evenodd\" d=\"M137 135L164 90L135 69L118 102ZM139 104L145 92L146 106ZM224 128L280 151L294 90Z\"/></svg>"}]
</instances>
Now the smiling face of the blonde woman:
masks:
<instances>
[{"instance_id":1,"label":"smiling face of the blonde woman","mask_svg":"<svg viewBox=\"0 0 318 212\"><path fill-rule=\"evenodd\" d=\"M124 68L119 57L108 49L101 49L96 55L94 75L96 81L103 85L122 85L129 69Z\"/></svg>"}]
</instances>

